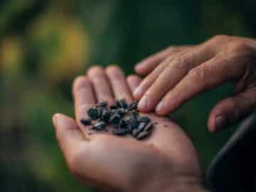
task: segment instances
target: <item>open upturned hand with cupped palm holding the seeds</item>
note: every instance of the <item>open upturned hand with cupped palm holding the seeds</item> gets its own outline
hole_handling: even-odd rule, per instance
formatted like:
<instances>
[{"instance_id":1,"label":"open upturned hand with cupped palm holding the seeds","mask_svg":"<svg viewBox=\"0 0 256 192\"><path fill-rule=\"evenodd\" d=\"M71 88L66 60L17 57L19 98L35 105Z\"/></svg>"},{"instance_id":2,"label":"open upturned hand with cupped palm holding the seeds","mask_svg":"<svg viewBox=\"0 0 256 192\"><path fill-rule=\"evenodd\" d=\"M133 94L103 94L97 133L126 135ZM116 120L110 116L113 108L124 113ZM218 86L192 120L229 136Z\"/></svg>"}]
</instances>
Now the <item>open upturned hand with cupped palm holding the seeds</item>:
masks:
<instances>
[{"instance_id":1,"label":"open upturned hand with cupped palm holding the seeds","mask_svg":"<svg viewBox=\"0 0 256 192\"><path fill-rule=\"evenodd\" d=\"M93 132L80 124L96 102L125 98L141 79L125 79L117 66L91 68L75 79L75 120L55 114L55 134L70 171L78 181L100 191L207 191L196 150L181 127L156 114L141 114L155 122L150 137L137 141L109 132Z\"/></svg>"}]
</instances>

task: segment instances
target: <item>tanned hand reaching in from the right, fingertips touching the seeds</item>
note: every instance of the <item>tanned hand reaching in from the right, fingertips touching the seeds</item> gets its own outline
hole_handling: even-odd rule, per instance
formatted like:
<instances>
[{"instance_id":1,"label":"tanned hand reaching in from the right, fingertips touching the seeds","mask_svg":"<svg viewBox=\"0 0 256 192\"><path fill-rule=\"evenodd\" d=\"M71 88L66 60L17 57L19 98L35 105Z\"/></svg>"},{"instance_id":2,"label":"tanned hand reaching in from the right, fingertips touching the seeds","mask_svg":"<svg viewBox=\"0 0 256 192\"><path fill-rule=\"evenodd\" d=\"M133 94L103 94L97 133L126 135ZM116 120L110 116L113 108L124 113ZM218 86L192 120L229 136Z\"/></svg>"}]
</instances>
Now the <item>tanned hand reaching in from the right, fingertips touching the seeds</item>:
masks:
<instances>
[{"instance_id":1,"label":"tanned hand reaching in from the right, fingertips touching the seeds","mask_svg":"<svg viewBox=\"0 0 256 192\"><path fill-rule=\"evenodd\" d=\"M171 47L146 58L135 70L147 75L133 92L142 112L170 114L184 102L224 82L235 95L218 102L208 117L215 132L238 122L256 105L256 41L219 35L197 46Z\"/></svg>"}]
</instances>

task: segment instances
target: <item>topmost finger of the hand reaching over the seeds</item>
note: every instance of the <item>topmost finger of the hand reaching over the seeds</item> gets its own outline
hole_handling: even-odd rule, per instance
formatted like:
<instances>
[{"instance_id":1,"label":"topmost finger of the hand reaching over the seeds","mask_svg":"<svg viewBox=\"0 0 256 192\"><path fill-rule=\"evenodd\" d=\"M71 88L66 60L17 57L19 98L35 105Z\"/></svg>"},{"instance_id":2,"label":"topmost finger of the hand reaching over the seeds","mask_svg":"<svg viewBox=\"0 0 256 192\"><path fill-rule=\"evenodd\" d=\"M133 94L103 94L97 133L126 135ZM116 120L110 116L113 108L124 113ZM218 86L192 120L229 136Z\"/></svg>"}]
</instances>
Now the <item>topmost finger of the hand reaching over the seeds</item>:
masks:
<instances>
[{"instance_id":1,"label":"topmost finger of the hand reaching over the seeds","mask_svg":"<svg viewBox=\"0 0 256 192\"><path fill-rule=\"evenodd\" d=\"M151 73L157 65L163 62L167 57L171 56L174 53L178 53L189 46L171 46L164 50L161 50L159 53L149 56L148 58L142 60L135 66L135 71L139 75L148 75Z\"/></svg>"}]
</instances>

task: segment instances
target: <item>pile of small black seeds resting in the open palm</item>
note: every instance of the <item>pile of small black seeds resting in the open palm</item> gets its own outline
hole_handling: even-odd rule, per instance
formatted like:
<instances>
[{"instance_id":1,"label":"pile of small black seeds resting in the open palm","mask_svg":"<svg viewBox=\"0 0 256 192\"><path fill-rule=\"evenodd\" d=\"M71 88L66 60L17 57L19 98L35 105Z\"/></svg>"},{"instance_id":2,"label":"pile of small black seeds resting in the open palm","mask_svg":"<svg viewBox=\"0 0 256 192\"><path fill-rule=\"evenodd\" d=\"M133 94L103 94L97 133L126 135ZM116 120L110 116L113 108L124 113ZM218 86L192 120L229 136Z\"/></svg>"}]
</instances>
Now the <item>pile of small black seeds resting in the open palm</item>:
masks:
<instances>
[{"instance_id":1,"label":"pile of small black seeds resting in the open palm","mask_svg":"<svg viewBox=\"0 0 256 192\"><path fill-rule=\"evenodd\" d=\"M96 131L107 131L107 124L111 124L112 134L118 136L130 134L136 139L144 139L154 127L149 117L139 115L137 102L127 105L125 100L117 100L110 107L107 102L100 102L87 110L87 114L89 118L80 119L82 124L91 125Z\"/></svg>"}]
</instances>

